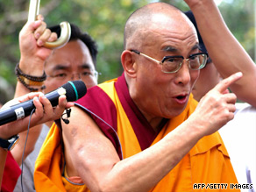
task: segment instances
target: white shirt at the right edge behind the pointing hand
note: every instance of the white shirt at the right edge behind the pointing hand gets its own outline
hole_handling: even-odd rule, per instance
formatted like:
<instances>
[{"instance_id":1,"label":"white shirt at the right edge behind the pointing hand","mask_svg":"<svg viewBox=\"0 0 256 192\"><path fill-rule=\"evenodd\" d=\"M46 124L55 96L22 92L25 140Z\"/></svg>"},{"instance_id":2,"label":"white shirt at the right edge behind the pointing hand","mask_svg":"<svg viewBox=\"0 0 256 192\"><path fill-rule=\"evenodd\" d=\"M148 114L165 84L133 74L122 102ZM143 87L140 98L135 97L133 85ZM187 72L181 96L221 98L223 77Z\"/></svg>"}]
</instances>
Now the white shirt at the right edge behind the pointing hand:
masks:
<instances>
[{"instance_id":1,"label":"white shirt at the right edge behind the pointing hand","mask_svg":"<svg viewBox=\"0 0 256 192\"><path fill-rule=\"evenodd\" d=\"M256 191L256 108L248 103L236 103L235 117L219 132L231 157L239 184L250 183Z\"/></svg>"}]
</instances>

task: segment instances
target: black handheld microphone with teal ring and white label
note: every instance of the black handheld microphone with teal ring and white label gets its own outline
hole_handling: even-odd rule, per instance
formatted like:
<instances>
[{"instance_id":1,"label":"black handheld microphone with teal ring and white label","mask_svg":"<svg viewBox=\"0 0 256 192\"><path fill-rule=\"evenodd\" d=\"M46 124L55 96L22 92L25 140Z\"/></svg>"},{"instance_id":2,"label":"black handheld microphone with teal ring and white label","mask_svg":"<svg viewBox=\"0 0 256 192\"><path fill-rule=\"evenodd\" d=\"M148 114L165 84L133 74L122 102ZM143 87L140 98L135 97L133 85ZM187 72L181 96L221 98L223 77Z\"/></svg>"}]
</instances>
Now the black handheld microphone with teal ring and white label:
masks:
<instances>
[{"instance_id":1,"label":"black handheld microphone with teal ring and white label","mask_svg":"<svg viewBox=\"0 0 256 192\"><path fill-rule=\"evenodd\" d=\"M47 93L46 98L54 107L58 105L59 96L66 95L68 102L74 102L84 96L86 92L87 89L84 82L78 80L67 82L60 88ZM33 109L35 109L35 106L32 99L4 108L3 110L0 110L0 125L27 117L31 114Z\"/></svg>"}]
</instances>

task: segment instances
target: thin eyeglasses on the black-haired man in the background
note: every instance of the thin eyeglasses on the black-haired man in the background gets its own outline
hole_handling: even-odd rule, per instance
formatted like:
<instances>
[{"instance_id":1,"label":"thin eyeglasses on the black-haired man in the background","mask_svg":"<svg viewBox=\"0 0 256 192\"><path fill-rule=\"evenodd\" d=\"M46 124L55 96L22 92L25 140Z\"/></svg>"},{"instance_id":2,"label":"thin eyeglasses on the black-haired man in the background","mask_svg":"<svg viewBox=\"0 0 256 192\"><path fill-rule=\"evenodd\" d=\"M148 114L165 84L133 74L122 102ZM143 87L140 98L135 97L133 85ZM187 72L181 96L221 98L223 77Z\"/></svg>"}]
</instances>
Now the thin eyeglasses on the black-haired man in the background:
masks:
<instances>
[{"instance_id":1,"label":"thin eyeglasses on the black-haired man in the background","mask_svg":"<svg viewBox=\"0 0 256 192\"><path fill-rule=\"evenodd\" d=\"M57 81L68 82L70 80L74 80L75 75L77 75L78 78L81 79L83 82L89 82L92 78L96 78L96 81L97 81L98 75L101 75L101 74L98 73L96 70L94 70L94 71L84 71L78 74L61 72L60 74L57 74L57 75L47 75L47 77L52 77Z\"/></svg>"}]
</instances>

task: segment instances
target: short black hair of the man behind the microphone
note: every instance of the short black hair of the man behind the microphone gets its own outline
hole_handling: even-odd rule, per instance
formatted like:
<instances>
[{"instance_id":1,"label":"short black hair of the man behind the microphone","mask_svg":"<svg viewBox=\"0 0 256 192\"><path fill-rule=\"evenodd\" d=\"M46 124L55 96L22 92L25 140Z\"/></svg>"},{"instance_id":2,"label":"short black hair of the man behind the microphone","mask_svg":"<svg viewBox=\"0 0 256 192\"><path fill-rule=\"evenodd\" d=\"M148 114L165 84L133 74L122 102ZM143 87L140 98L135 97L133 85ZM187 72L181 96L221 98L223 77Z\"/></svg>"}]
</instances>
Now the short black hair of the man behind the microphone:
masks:
<instances>
[{"instance_id":1,"label":"short black hair of the man behind the microphone","mask_svg":"<svg viewBox=\"0 0 256 192\"><path fill-rule=\"evenodd\" d=\"M98 53L96 41L89 36L87 32L82 33L80 28L75 24L70 24L71 35L69 41L80 39L89 48L89 53L96 67L96 55ZM58 37L60 37L60 25L50 26L51 32L56 32Z\"/></svg>"}]
</instances>

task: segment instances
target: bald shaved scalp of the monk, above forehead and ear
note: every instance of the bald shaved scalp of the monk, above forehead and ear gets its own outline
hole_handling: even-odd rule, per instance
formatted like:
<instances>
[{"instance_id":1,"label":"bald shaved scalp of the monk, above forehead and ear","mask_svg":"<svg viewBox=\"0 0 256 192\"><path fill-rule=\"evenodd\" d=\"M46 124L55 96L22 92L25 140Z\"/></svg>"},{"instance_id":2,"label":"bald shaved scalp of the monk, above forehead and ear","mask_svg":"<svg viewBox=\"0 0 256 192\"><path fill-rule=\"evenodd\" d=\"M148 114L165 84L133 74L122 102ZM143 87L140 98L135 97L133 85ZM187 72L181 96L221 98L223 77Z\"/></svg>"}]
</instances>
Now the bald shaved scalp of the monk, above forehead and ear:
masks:
<instances>
[{"instance_id":1,"label":"bald shaved scalp of the monk, above forehead and ear","mask_svg":"<svg viewBox=\"0 0 256 192\"><path fill-rule=\"evenodd\" d=\"M185 24L185 25L183 25ZM194 25L188 18L171 4L153 3L146 4L134 11L128 18L124 27L124 49L143 46L149 32L160 30L167 26L192 27Z\"/></svg>"}]
</instances>

